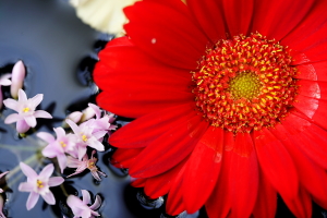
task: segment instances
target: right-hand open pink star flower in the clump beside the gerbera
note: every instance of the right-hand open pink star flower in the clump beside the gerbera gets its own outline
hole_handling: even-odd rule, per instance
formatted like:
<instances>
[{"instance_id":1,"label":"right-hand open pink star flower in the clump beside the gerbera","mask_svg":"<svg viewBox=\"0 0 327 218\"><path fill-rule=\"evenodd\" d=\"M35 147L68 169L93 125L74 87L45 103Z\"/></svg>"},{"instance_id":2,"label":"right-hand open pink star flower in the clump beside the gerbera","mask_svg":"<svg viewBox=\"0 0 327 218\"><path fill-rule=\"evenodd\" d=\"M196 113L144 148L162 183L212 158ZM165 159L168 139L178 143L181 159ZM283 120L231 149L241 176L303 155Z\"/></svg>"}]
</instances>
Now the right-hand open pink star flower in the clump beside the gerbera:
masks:
<instances>
[{"instance_id":1,"label":"right-hand open pink star flower in the clump beside the gerbera","mask_svg":"<svg viewBox=\"0 0 327 218\"><path fill-rule=\"evenodd\" d=\"M86 154L87 146L93 147L99 152L105 150L105 146L98 140L104 137L104 135L107 133L106 131L98 131L94 133L94 128L89 125L78 126L71 120L65 120L65 122L71 126L74 134L76 135L76 145L80 160Z\"/></svg>"}]
</instances>

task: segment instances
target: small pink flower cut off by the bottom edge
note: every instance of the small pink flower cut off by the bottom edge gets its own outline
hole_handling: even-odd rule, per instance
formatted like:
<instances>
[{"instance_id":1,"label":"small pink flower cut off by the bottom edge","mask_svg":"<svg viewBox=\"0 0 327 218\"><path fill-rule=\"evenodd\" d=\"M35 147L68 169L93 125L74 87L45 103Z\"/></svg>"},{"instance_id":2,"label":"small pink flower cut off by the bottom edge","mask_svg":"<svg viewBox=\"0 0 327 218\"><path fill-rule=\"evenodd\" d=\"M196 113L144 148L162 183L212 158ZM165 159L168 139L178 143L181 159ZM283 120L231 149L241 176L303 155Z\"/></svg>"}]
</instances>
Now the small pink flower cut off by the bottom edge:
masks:
<instances>
[{"instance_id":1,"label":"small pink flower cut off by the bottom edge","mask_svg":"<svg viewBox=\"0 0 327 218\"><path fill-rule=\"evenodd\" d=\"M66 198L66 204L71 207L74 214L74 218L82 217L82 218L94 218L95 216L100 216L97 210L101 204L101 197L96 195L96 199L93 205L87 206L90 203L89 193L86 190L82 190L83 201L75 195L69 195Z\"/></svg>"}]
</instances>

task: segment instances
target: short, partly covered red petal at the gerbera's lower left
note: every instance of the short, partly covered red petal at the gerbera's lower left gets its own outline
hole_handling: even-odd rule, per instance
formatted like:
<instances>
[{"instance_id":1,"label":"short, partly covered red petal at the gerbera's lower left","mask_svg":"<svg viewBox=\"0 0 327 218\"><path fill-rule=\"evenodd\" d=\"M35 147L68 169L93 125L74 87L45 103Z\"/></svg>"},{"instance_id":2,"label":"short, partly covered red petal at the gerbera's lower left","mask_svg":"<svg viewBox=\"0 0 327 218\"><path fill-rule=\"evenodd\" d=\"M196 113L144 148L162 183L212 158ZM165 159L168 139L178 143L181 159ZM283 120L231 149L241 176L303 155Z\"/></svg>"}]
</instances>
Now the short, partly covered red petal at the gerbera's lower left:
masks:
<instances>
[{"instance_id":1,"label":"short, partly covered red petal at the gerbera's lower left","mask_svg":"<svg viewBox=\"0 0 327 218\"><path fill-rule=\"evenodd\" d=\"M175 180L178 173L181 171L182 167L184 167L187 159L189 158L185 158L175 167L167 172L164 172L162 174L148 178L144 186L145 194L153 199L166 195L171 187L171 183Z\"/></svg>"}]
</instances>

